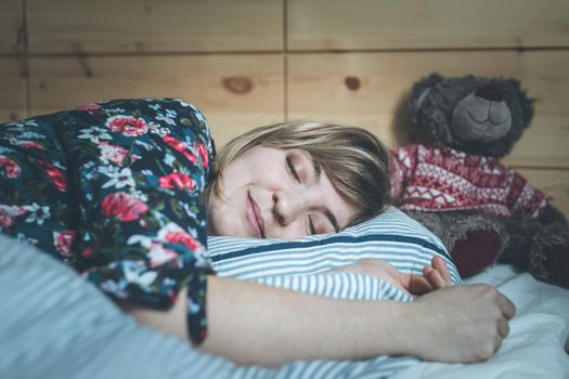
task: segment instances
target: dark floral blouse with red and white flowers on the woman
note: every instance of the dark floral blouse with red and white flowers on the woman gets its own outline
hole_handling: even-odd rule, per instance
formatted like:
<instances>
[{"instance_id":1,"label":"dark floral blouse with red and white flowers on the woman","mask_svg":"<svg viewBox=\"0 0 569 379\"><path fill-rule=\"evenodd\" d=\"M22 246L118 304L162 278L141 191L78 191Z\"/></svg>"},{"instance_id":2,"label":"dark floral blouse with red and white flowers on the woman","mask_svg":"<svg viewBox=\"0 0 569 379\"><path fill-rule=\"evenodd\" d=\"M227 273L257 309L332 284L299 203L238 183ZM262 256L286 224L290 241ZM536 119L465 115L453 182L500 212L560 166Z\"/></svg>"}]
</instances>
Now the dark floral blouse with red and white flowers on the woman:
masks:
<instances>
[{"instance_id":1,"label":"dark floral blouse with red and white flowers on the woman","mask_svg":"<svg viewBox=\"0 0 569 379\"><path fill-rule=\"evenodd\" d=\"M104 292L169 309L189 289L206 337L201 195L214 142L171 99L114 100L0 125L0 231L69 264Z\"/></svg>"}]
</instances>

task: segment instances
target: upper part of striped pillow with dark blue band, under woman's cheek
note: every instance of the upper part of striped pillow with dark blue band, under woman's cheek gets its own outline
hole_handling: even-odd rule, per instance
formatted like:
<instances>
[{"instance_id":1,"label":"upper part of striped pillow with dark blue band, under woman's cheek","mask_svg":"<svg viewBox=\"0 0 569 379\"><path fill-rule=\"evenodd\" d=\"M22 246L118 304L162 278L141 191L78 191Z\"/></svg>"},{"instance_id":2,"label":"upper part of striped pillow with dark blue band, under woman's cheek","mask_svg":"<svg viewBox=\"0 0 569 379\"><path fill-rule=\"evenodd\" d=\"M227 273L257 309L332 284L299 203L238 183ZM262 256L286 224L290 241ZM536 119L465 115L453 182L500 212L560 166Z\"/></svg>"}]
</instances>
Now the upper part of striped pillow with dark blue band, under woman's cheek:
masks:
<instances>
[{"instance_id":1,"label":"upper part of striped pillow with dark blue band, under woman's cheek","mask_svg":"<svg viewBox=\"0 0 569 379\"><path fill-rule=\"evenodd\" d=\"M338 234L293 241L208 238L208 256L218 275L249 280L314 275L362 259L383 259L402 272L422 275L436 254L445 260L452 283L462 284L440 239L396 208Z\"/></svg>"}]
</instances>

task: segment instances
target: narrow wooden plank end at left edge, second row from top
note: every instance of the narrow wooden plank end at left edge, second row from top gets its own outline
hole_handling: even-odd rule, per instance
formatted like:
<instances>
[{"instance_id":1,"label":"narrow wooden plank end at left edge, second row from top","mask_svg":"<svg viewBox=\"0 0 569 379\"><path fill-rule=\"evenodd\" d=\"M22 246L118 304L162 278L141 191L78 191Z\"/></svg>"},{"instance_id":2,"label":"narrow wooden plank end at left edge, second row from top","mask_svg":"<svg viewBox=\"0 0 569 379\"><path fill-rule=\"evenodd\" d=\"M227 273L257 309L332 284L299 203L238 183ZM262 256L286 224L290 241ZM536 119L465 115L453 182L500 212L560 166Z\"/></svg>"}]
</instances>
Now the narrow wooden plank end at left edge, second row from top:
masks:
<instances>
[{"instance_id":1,"label":"narrow wooden plank end at left edge, second row from top","mask_svg":"<svg viewBox=\"0 0 569 379\"><path fill-rule=\"evenodd\" d=\"M0 57L0 123L27 116L26 79L18 57Z\"/></svg>"}]
</instances>

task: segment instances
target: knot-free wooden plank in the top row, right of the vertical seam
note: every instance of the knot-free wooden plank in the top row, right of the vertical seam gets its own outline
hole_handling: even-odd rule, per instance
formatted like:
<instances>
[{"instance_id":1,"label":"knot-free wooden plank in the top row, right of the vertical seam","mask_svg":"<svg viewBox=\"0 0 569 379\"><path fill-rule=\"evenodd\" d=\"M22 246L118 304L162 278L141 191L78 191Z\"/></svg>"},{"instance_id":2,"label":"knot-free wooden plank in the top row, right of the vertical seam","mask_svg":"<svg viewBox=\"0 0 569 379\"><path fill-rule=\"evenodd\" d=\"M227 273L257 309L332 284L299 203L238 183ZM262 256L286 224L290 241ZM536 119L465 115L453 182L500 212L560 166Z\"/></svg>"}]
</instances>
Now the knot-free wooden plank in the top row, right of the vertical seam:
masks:
<instances>
[{"instance_id":1,"label":"knot-free wooden plank in the top row, right of the vertical seam","mask_svg":"<svg viewBox=\"0 0 569 379\"><path fill-rule=\"evenodd\" d=\"M294 50L568 47L567 0L288 0Z\"/></svg>"}]
</instances>

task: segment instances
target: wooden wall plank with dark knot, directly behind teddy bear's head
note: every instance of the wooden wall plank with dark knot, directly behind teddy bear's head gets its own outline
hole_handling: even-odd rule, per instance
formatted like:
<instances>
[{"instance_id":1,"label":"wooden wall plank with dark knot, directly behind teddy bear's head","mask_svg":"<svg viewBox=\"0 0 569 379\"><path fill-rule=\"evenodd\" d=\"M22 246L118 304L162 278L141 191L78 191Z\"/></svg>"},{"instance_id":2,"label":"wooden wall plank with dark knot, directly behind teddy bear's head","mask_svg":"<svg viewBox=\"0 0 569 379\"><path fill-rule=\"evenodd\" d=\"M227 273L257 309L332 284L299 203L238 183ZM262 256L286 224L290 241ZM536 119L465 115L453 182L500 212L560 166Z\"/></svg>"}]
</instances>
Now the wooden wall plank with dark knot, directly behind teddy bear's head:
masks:
<instances>
[{"instance_id":1,"label":"wooden wall plank with dark knot, directly behind teddy bear's head","mask_svg":"<svg viewBox=\"0 0 569 379\"><path fill-rule=\"evenodd\" d=\"M518 78L535 116L505 161L569 168L569 51L298 53L288 67L289 119L360 125L389 145L409 142L409 90L425 75Z\"/></svg>"}]
</instances>

